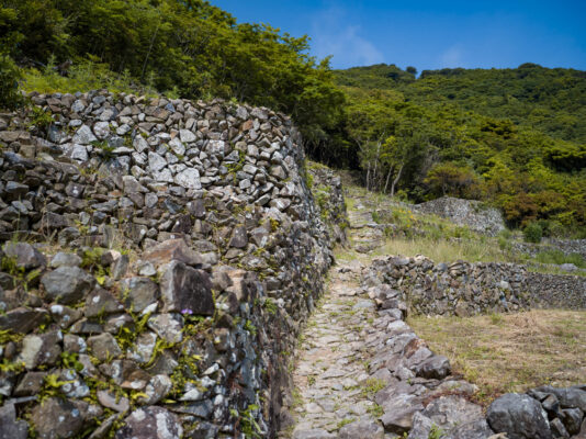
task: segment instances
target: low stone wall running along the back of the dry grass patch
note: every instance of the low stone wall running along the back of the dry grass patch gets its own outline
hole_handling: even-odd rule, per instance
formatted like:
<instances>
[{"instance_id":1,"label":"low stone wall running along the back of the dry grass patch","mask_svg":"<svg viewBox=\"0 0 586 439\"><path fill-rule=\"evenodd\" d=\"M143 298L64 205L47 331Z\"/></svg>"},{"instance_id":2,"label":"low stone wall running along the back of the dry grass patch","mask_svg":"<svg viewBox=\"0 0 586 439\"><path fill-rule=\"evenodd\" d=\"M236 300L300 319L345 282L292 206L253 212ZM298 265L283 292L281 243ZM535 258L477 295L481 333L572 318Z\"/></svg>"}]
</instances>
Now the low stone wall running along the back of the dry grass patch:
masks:
<instances>
[{"instance_id":1,"label":"low stone wall running along the back of the dry grass patch","mask_svg":"<svg viewBox=\"0 0 586 439\"><path fill-rule=\"evenodd\" d=\"M417 256L374 259L367 284L401 290L410 312L469 316L530 307L586 308L586 278L542 274L514 263L436 263Z\"/></svg>"}]
</instances>

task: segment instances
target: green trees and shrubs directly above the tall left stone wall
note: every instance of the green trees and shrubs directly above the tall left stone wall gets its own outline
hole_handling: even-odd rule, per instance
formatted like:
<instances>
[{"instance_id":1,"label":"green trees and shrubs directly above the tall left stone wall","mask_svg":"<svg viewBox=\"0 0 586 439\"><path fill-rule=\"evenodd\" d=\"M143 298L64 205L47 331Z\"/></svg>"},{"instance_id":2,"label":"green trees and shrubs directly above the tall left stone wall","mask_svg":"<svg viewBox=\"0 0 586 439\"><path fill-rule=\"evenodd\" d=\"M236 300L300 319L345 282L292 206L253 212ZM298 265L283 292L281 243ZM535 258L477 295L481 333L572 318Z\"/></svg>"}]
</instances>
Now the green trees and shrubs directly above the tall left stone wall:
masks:
<instances>
[{"instance_id":1,"label":"green trees and shrubs directly above the tall left stone wall","mask_svg":"<svg viewBox=\"0 0 586 439\"><path fill-rule=\"evenodd\" d=\"M341 131L345 95L329 59L308 55L307 36L237 23L204 0L2 4L2 92L16 90L14 59L29 67L25 90L159 90L171 98L246 101L291 114L314 150L336 150L329 145ZM59 66L67 60L72 64L64 77Z\"/></svg>"}]
</instances>

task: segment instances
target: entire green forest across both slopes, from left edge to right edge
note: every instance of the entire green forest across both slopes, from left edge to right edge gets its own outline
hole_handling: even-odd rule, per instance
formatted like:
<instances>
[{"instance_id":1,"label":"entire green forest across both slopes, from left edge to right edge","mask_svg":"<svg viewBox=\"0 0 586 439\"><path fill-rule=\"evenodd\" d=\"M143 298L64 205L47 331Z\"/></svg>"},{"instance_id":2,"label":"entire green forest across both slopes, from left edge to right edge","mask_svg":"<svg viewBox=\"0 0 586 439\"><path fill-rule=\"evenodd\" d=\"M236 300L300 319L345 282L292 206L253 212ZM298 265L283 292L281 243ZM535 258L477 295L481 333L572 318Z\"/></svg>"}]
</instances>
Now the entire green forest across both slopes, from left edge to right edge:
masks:
<instances>
[{"instance_id":1,"label":"entire green forest across both slopes, from left edge to right edge","mask_svg":"<svg viewBox=\"0 0 586 439\"><path fill-rule=\"evenodd\" d=\"M0 106L22 104L19 89L97 88L267 105L369 189L484 200L545 233L586 226L586 72L333 71L308 44L202 0L1 0Z\"/></svg>"}]
</instances>

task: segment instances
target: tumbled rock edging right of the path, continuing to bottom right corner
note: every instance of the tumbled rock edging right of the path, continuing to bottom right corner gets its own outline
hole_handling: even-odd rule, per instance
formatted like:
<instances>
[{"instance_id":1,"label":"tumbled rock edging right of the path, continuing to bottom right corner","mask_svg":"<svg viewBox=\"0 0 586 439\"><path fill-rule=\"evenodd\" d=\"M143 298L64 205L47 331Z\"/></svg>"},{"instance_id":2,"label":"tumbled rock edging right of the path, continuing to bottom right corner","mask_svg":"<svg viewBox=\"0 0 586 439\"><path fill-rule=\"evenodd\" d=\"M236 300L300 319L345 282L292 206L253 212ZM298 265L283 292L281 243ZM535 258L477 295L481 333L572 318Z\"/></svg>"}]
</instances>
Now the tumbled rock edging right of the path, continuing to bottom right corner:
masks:
<instances>
[{"instance_id":1,"label":"tumbled rock edging right of the path, continuing to bottom right corner","mask_svg":"<svg viewBox=\"0 0 586 439\"><path fill-rule=\"evenodd\" d=\"M383 409L380 419L386 431L409 439L438 437L438 431L446 439L502 437L495 434L518 439L586 436L585 385L507 393L485 414L472 402L478 389L452 375L449 360L433 353L404 322L407 304L401 293L369 273L364 280L379 308L376 330L367 345L376 352L369 373L383 386L374 401Z\"/></svg>"}]
</instances>

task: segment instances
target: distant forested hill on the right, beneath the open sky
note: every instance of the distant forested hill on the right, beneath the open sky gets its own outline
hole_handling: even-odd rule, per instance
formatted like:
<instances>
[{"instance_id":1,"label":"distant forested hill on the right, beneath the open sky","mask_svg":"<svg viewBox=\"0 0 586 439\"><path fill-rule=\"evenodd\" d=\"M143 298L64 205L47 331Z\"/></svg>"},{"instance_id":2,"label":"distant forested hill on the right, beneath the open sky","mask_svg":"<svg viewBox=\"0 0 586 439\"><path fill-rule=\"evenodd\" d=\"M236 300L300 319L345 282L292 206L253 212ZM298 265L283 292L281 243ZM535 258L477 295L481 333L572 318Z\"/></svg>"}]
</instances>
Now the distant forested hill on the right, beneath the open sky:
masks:
<instances>
[{"instance_id":1,"label":"distant forested hill on the right, beneath the open sky","mask_svg":"<svg viewBox=\"0 0 586 439\"><path fill-rule=\"evenodd\" d=\"M415 200L486 200L545 233L586 222L586 72L517 69L337 71L348 134L371 188Z\"/></svg>"}]
</instances>

